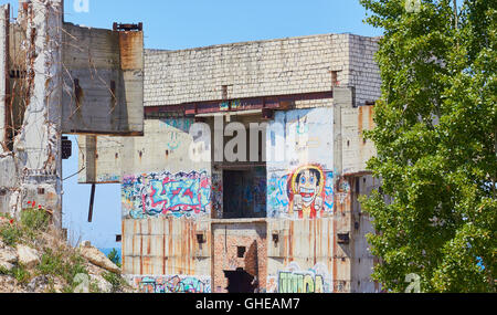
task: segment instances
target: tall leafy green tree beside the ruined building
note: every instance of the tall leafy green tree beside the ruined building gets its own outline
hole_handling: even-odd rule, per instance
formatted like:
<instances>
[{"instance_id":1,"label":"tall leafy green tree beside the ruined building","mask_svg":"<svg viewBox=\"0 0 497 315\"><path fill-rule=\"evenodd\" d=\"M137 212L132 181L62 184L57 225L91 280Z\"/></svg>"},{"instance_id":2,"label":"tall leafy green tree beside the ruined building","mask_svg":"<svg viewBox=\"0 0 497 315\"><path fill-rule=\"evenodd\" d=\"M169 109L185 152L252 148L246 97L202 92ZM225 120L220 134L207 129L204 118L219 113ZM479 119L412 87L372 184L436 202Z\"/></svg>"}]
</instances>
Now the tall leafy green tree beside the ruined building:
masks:
<instances>
[{"instance_id":1,"label":"tall leafy green tree beside the ruined building","mask_svg":"<svg viewBox=\"0 0 497 315\"><path fill-rule=\"evenodd\" d=\"M497 1L405 1L360 0L384 30L366 134L383 185L361 200L377 231L373 279L390 292L412 273L422 292L495 292Z\"/></svg>"}]
</instances>

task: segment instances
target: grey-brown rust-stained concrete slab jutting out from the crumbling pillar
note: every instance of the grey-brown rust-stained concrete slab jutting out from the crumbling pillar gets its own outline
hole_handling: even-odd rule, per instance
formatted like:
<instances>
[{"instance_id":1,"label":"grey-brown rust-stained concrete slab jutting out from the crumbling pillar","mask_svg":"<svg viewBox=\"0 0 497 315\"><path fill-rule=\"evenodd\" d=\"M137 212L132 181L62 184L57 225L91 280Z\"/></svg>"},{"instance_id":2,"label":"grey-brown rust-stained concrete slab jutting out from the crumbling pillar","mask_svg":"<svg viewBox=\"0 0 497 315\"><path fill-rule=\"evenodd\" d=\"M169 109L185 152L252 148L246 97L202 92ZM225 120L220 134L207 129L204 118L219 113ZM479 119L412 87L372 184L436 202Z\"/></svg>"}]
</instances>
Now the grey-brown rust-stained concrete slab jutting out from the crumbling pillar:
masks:
<instances>
[{"instance_id":1,"label":"grey-brown rust-stained concrete slab jutting out from the crumbling pillar","mask_svg":"<svg viewBox=\"0 0 497 315\"><path fill-rule=\"evenodd\" d=\"M144 34L64 23L63 132L144 132Z\"/></svg>"}]
</instances>

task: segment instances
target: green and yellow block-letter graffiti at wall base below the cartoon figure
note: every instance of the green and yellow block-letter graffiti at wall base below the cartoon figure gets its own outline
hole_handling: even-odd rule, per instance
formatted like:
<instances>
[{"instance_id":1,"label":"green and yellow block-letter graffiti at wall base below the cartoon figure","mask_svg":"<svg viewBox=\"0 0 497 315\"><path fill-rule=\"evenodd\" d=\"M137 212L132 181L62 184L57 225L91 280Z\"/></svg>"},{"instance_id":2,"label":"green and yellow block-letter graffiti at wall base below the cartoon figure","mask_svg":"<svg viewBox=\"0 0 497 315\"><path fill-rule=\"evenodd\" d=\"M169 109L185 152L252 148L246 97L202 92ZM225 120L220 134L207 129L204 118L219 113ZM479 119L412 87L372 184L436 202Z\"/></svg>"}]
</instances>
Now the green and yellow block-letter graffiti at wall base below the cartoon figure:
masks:
<instances>
[{"instance_id":1,"label":"green and yellow block-letter graffiti at wall base below the cartoon figure","mask_svg":"<svg viewBox=\"0 0 497 315\"><path fill-rule=\"evenodd\" d=\"M267 279L268 293L327 293L329 290L328 272L321 264L308 271L300 271L296 263L292 263L275 277Z\"/></svg>"}]
</instances>

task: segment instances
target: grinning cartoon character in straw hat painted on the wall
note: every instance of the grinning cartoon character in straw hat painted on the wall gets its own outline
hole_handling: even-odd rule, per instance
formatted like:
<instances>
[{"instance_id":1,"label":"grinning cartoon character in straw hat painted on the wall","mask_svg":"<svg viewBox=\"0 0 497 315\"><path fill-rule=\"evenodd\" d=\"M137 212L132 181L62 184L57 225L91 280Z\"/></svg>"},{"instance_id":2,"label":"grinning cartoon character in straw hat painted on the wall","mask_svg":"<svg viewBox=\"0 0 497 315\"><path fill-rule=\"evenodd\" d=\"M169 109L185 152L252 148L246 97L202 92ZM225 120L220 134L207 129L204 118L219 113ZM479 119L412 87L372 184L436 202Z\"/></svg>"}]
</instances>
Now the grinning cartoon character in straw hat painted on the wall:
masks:
<instances>
[{"instance_id":1,"label":"grinning cartoon character in straw hat painted on the wall","mask_svg":"<svg viewBox=\"0 0 497 315\"><path fill-rule=\"evenodd\" d=\"M293 199L293 211L299 218L316 218L324 203L322 170L317 166L305 166L297 169L292 177L290 198Z\"/></svg>"}]
</instances>

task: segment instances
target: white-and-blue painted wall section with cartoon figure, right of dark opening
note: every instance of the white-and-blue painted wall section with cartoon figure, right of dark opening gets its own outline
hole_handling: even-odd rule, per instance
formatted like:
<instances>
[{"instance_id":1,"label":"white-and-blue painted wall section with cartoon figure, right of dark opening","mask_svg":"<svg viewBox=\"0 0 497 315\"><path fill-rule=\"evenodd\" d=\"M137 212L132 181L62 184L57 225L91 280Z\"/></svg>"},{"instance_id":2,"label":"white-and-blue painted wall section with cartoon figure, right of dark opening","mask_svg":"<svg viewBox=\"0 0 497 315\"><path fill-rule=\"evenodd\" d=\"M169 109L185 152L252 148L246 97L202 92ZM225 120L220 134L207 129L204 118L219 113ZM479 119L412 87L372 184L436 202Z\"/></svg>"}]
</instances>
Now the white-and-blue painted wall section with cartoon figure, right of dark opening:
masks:
<instances>
[{"instance_id":1,"label":"white-and-blue painted wall section with cartoon figure, right of dark opening","mask_svg":"<svg viewBox=\"0 0 497 315\"><path fill-rule=\"evenodd\" d=\"M266 136L268 217L329 216L334 207L334 108L277 112Z\"/></svg>"}]
</instances>

